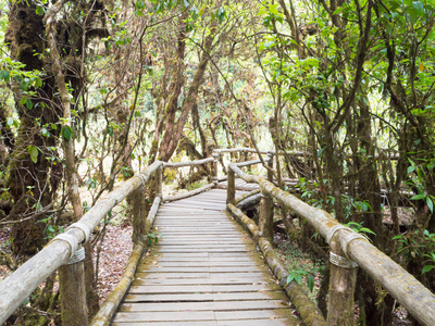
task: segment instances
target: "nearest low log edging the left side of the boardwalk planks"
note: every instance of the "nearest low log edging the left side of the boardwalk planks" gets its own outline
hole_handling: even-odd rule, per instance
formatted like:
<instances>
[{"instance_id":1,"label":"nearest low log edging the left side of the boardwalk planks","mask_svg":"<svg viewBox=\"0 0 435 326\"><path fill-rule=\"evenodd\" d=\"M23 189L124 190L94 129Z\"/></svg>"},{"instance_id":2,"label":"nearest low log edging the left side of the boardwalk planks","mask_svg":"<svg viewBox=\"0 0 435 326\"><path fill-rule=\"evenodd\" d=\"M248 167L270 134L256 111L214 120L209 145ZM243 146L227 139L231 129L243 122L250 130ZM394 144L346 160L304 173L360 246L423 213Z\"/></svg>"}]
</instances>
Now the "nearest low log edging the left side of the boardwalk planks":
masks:
<instances>
[{"instance_id":1,"label":"nearest low log edging the left side of the boardwalk planks","mask_svg":"<svg viewBox=\"0 0 435 326\"><path fill-rule=\"evenodd\" d=\"M120 279L120 283L108 296L98 313L94 316L92 322L90 323L91 326L110 325L117 306L127 292L132 281L135 279L136 268L139 264L144 249L146 249L146 244L144 246L144 243L136 243L134 246L127 266L125 267L125 272Z\"/></svg>"}]
</instances>

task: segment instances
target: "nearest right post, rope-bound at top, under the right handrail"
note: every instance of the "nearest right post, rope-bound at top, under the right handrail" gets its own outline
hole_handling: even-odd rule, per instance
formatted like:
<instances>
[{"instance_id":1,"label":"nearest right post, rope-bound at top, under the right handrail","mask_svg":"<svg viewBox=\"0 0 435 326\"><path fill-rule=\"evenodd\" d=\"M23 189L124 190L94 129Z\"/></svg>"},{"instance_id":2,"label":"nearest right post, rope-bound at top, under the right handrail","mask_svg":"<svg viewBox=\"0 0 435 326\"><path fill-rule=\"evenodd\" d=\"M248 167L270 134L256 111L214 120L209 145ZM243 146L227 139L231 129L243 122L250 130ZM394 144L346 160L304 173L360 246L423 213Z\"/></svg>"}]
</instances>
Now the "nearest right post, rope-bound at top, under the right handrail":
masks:
<instances>
[{"instance_id":1,"label":"nearest right post, rope-bound at top, under the right handrail","mask_svg":"<svg viewBox=\"0 0 435 326\"><path fill-rule=\"evenodd\" d=\"M330 242L331 272L326 325L353 325L353 293L358 265L347 259L337 236Z\"/></svg>"}]
</instances>

